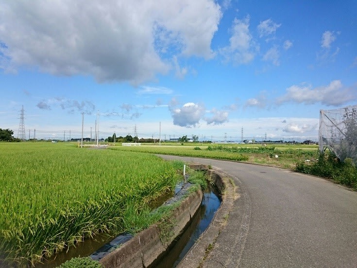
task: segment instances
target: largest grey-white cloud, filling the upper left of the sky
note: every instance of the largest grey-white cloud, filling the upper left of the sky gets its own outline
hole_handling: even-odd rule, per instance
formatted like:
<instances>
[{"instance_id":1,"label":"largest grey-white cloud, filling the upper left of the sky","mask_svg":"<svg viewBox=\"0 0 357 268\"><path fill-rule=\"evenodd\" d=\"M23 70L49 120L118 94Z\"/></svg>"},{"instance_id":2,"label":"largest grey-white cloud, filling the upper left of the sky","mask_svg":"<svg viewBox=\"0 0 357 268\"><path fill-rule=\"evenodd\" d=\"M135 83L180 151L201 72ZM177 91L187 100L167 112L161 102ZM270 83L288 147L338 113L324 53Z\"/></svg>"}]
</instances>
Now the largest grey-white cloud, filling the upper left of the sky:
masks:
<instances>
[{"instance_id":1,"label":"largest grey-white cloud, filling the upper left of the sky","mask_svg":"<svg viewBox=\"0 0 357 268\"><path fill-rule=\"evenodd\" d=\"M222 16L213 0L2 1L0 14L5 71L136 84L168 72L173 55L212 58Z\"/></svg>"}]
</instances>

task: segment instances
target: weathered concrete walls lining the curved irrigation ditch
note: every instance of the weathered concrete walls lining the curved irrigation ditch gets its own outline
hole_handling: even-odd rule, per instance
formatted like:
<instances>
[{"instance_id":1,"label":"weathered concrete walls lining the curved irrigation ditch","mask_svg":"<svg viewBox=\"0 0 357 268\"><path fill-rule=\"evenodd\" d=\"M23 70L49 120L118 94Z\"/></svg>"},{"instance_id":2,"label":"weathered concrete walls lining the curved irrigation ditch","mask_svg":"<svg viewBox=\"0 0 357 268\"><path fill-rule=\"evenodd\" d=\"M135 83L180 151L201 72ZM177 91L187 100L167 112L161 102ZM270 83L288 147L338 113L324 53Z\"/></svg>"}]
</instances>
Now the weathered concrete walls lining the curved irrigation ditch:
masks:
<instances>
[{"instance_id":1,"label":"weathered concrete walls lining the curved irrigation ditch","mask_svg":"<svg viewBox=\"0 0 357 268\"><path fill-rule=\"evenodd\" d=\"M208 166L203 165L190 165L190 168L208 170ZM221 177L212 170L208 170L208 174L219 191L223 191L224 183ZM146 268L150 266L184 230L199 208L202 197L201 190L190 193L172 211L169 219L171 224L154 224L139 232L120 248L105 255L100 263L105 268Z\"/></svg>"}]
</instances>

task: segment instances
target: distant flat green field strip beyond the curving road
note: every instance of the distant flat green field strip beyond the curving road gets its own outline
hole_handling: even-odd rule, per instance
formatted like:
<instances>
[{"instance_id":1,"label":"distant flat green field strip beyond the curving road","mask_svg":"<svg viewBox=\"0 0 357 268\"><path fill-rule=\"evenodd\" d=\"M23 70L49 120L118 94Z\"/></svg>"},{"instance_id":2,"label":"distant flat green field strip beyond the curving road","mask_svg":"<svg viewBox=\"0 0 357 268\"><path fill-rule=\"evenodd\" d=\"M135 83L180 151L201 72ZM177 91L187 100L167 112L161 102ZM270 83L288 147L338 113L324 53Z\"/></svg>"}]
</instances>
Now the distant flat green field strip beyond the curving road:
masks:
<instances>
[{"instance_id":1,"label":"distant flat green field strip beyond the curving road","mask_svg":"<svg viewBox=\"0 0 357 268\"><path fill-rule=\"evenodd\" d=\"M113 145L113 143L111 143ZM154 154L203 157L231 161L245 161L295 169L296 163L316 160L318 145L307 144L202 144L202 143L148 143L141 146L110 146L120 151L148 152ZM277 157L276 157L277 156Z\"/></svg>"}]
</instances>

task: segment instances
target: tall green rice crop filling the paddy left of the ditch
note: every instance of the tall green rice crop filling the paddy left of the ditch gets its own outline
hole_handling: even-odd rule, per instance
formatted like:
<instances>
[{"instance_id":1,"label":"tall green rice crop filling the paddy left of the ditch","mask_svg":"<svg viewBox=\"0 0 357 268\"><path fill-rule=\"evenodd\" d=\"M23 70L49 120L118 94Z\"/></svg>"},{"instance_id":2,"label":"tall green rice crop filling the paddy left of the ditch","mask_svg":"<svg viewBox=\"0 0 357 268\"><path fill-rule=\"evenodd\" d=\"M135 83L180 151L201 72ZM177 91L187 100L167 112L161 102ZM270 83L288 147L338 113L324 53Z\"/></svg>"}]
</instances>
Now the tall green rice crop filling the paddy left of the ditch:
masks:
<instances>
[{"instance_id":1,"label":"tall green rice crop filling the paddy left of the ditch","mask_svg":"<svg viewBox=\"0 0 357 268\"><path fill-rule=\"evenodd\" d=\"M177 169L138 152L0 143L0 264L35 263L99 232L149 226L155 215L139 215L173 191Z\"/></svg>"}]
</instances>

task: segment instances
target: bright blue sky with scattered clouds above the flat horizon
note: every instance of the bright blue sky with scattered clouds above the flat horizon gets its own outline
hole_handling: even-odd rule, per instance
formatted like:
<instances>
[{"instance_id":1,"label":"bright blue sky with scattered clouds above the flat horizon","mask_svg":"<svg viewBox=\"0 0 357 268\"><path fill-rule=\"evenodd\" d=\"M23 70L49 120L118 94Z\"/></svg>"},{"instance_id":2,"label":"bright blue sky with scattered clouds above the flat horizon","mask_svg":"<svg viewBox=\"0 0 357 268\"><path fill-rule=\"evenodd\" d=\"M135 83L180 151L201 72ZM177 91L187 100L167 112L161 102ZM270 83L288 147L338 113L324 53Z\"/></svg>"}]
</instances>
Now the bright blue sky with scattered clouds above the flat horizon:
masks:
<instances>
[{"instance_id":1,"label":"bright blue sky with scattered clouds above the flat horizon","mask_svg":"<svg viewBox=\"0 0 357 268\"><path fill-rule=\"evenodd\" d=\"M0 3L0 128L317 140L357 103L357 1ZM161 125L161 128L160 128ZM136 130L136 132L135 132Z\"/></svg>"}]
</instances>

